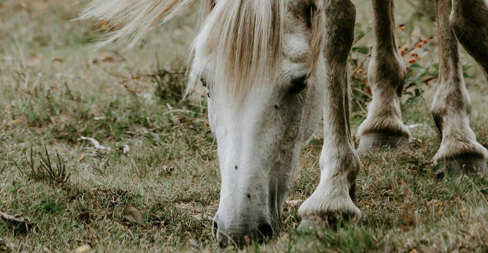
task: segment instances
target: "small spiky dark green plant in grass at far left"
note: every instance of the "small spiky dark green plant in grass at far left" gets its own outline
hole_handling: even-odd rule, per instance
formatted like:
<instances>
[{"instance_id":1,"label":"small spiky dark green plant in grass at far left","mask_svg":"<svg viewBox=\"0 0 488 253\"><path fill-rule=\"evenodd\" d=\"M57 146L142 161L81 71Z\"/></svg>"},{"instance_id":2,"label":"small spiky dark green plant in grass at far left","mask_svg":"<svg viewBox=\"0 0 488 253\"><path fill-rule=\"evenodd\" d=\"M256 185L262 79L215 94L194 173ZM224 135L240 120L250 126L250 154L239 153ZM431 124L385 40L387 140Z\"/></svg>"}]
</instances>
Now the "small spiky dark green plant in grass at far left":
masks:
<instances>
[{"instance_id":1,"label":"small spiky dark green plant in grass at far left","mask_svg":"<svg viewBox=\"0 0 488 253\"><path fill-rule=\"evenodd\" d=\"M49 184L64 184L69 180L71 174L66 171L66 165L61 161L58 152L56 152L58 161L53 165L46 146L44 146L44 155L38 152L37 157L34 156L32 146L30 147L30 154L27 151L27 149L22 151L24 157L18 164L19 170L27 178Z\"/></svg>"}]
</instances>

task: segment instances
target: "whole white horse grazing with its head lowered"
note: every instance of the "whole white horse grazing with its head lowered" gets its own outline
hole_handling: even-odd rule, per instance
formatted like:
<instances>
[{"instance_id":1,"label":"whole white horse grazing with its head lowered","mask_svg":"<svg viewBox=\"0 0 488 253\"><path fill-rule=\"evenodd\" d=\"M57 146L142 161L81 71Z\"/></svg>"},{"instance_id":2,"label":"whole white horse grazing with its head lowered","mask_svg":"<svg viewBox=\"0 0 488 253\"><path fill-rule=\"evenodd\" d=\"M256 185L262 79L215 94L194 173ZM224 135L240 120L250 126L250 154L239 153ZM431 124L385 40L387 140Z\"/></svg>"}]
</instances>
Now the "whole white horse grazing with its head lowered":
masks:
<instances>
[{"instance_id":1,"label":"whole white horse grazing with its head lowered","mask_svg":"<svg viewBox=\"0 0 488 253\"><path fill-rule=\"evenodd\" d=\"M135 45L150 28L172 19L191 2L93 0L82 18L125 23L105 43L132 35ZM392 0L372 2L375 40L368 79L373 100L357 133L360 153L379 146L407 149L410 136L399 106L406 68L394 39ZM488 73L488 2L452 3L437 2L441 71L433 114L443 138L434 160L447 164L446 173L487 173L488 152L469 127L470 101L451 25ZM213 220L216 239L242 244L246 237L280 233L282 204L300 148L322 116L320 183L299 209L299 228L327 226L343 217L359 219L353 198L361 163L349 126L346 74L354 4L200 0L200 13L188 87L200 82L206 87L209 122L218 142L222 188ZM472 21L477 21L476 29L468 27Z\"/></svg>"}]
</instances>

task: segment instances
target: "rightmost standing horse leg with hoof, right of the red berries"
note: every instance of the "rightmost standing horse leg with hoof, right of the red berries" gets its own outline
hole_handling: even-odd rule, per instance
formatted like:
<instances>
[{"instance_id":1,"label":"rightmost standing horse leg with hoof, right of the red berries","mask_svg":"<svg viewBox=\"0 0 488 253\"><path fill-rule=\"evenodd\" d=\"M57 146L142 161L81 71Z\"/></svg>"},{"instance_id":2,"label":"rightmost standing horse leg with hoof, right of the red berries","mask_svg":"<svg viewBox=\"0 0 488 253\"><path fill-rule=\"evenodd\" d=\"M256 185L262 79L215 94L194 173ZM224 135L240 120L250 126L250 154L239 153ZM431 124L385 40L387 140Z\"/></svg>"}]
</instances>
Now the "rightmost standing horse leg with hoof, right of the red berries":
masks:
<instances>
[{"instance_id":1,"label":"rightmost standing horse leg with hoof, right of the red berries","mask_svg":"<svg viewBox=\"0 0 488 253\"><path fill-rule=\"evenodd\" d=\"M471 101L463 78L458 41L449 24L451 0L437 0L436 5L440 83L432 104L432 114L442 133L442 141L434 161L445 164L441 173L488 173L488 151L476 141L469 127Z\"/></svg>"}]
</instances>

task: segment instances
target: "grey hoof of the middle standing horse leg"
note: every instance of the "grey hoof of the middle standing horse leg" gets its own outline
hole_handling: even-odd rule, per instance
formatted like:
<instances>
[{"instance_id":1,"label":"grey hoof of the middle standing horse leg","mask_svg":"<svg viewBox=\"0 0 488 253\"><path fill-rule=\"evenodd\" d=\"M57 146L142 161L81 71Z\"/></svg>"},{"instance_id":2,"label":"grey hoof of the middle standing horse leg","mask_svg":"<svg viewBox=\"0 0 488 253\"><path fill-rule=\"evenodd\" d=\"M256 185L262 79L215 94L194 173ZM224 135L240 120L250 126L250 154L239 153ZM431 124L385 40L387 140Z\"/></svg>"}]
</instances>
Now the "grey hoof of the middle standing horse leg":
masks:
<instances>
[{"instance_id":1,"label":"grey hoof of the middle standing horse leg","mask_svg":"<svg viewBox=\"0 0 488 253\"><path fill-rule=\"evenodd\" d=\"M365 134L359 140L357 152L360 155L367 155L369 152L382 148L408 151L410 149L408 147L408 137L382 133Z\"/></svg>"}]
</instances>

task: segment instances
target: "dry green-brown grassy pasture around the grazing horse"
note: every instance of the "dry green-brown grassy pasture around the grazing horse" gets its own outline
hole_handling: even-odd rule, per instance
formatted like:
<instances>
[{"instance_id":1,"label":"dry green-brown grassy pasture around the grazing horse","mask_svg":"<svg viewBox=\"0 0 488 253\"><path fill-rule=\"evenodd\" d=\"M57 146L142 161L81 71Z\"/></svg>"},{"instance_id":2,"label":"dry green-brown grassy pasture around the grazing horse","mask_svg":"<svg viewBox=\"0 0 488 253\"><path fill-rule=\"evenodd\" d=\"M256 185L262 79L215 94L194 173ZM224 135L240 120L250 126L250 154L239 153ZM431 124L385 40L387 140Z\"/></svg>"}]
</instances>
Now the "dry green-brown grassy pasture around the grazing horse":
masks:
<instances>
[{"instance_id":1,"label":"dry green-brown grassy pasture around the grazing horse","mask_svg":"<svg viewBox=\"0 0 488 253\"><path fill-rule=\"evenodd\" d=\"M397 23L405 24L398 38L413 49L435 27L408 2L397 1ZM95 51L96 28L120 24L70 21L84 4L0 0L0 252L235 250L217 248L211 236L220 179L205 101L181 101L193 19L155 29L133 51L123 42ZM356 4L353 130L370 98L370 1ZM440 138L428 112L437 82L435 37L413 52L422 59L407 63L402 101L411 151L361 157L358 224L295 230L298 207L319 181L318 126L303 147L281 237L245 251L488 251L488 178L435 176ZM488 84L464 52L463 59L471 125L488 147Z\"/></svg>"}]
</instances>

